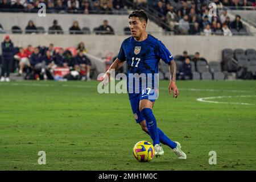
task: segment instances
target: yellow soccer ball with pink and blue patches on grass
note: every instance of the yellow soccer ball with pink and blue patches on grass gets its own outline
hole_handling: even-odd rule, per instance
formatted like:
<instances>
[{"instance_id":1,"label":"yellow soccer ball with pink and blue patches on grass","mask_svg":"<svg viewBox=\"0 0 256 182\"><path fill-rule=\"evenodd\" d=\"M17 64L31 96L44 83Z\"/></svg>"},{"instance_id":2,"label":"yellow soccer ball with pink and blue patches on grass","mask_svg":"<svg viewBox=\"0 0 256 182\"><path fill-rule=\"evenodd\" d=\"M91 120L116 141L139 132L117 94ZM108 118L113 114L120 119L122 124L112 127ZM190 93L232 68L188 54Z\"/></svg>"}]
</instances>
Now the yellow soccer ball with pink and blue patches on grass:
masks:
<instances>
[{"instance_id":1,"label":"yellow soccer ball with pink and blue patches on grass","mask_svg":"<svg viewBox=\"0 0 256 182\"><path fill-rule=\"evenodd\" d=\"M149 162L155 156L155 149L150 142L142 140L133 147L133 155L139 162Z\"/></svg>"}]
</instances>

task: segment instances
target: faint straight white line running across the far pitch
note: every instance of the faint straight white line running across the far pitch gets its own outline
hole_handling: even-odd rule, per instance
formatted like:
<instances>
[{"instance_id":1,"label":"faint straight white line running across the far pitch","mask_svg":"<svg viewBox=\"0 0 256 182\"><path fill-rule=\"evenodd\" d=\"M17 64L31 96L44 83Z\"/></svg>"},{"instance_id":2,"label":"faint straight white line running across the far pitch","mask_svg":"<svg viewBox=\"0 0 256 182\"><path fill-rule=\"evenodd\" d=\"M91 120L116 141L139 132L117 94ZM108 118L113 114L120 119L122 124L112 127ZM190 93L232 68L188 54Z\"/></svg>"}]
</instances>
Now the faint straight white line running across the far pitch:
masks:
<instances>
[{"instance_id":1,"label":"faint straight white line running across the far pitch","mask_svg":"<svg viewBox=\"0 0 256 182\"><path fill-rule=\"evenodd\" d=\"M75 87L75 88L97 88L97 86L93 85L68 85L68 84L35 84L35 83L20 83L20 82L0 82L0 85L13 85L13 86L63 86L63 87ZM168 90L168 88L159 88L160 90ZM247 92L251 93L253 90L225 90L225 89L192 89L192 88L179 88L179 90L188 90L192 92Z\"/></svg>"}]
</instances>

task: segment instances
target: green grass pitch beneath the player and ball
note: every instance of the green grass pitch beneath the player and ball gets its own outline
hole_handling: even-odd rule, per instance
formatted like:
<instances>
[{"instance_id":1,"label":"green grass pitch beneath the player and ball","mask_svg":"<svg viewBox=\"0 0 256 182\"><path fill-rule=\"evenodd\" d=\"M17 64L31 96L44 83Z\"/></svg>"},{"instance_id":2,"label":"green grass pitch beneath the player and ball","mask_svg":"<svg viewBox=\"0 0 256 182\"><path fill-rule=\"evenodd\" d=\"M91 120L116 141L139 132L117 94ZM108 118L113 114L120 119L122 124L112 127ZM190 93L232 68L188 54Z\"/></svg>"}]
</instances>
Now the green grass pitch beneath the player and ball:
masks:
<instances>
[{"instance_id":1,"label":"green grass pitch beneath the player and ball","mask_svg":"<svg viewBox=\"0 0 256 182\"><path fill-rule=\"evenodd\" d=\"M153 112L187 160L163 146L164 156L148 163L133 156L135 143L151 139L135 123L127 94L98 94L97 84L0 83L0 170L256 169L255 81L177 81L177 99L161 81ZM204 97L218 103L197 101ZM38 151L46 151L46 165Z\"/></svg>"}]
</instances>

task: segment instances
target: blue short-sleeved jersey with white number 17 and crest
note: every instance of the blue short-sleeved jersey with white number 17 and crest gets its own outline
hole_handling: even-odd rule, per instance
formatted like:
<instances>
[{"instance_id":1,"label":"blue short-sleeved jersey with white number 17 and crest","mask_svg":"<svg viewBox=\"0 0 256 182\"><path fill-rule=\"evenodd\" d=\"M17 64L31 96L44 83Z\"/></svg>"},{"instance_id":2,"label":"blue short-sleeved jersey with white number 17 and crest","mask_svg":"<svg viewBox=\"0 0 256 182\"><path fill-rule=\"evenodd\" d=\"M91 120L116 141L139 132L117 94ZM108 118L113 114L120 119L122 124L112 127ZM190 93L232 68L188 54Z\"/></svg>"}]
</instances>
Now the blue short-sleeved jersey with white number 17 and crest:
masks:
<instances>
[{"instance_id":1,"label":"blue short-sleeved jersey with white number 17 and crest","mask_svg":"<svg viewBox=\"0 0 256 182\"><path fill-rule=\"evenodd\" d=\"M158 89L155 86L158 81L155 73L158 73L159 60L162 59L165 63L170 63L173 57L160 40L148 34L147 39L141 42L135 40L133 36L125 39L120 48L118 59L126 61L127 89L129 98L133 98L141 92L142 94L147 91L149 93L150 90L145 90L146 88ZM148 84L150 82L151 84Z\"/></svg>"}]
</instances>

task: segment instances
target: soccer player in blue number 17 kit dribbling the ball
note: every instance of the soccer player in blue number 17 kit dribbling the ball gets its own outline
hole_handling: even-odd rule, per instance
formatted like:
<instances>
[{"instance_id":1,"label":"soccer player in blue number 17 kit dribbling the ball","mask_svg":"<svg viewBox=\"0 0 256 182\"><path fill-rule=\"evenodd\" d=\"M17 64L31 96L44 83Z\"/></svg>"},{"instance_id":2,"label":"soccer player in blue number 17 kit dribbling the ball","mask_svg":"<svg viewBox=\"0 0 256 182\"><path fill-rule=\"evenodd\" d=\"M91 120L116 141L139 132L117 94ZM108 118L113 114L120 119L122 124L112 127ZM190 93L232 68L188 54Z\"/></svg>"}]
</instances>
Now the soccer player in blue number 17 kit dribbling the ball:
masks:
<instances>
[{"instance_id":1,"label":"soccer player in blue number 17 kit dribbling the ball","mask_svg":"<svg viewBox=\"0 0 256 182\"><path fill-rule=\"evenodd\" d=\"M179 159L186 159L187 156L181 151L180 143L173 142L157 127L156 119L152 113L152 107L158 92L158 85L155 84L157 81L155 73L158 73L160 59L167 63L170 68L169 93L171 94L172 90L174 90L173 95L177 98L179 91L175 84L176 64L174 59L162 42L147 34L147 19L147 15L143 10L135 10L129 15L132 36L123 41L117 59L102 79L104 85L108 84L112 69L120 68L126 61L127 89L129 90L131 109L136 122L139 123L143 131L150 135L155 148L155 156L158 157L164 154L160 144L162 143L172 148ZM133 82L134 80L135 83ZM148 84L150 83L148 80L151 80L151 85ZM147 83L146 85L144 84L145 82ZM139 86L136 87L136 85Z\"/></svg>"}]
</instances>

